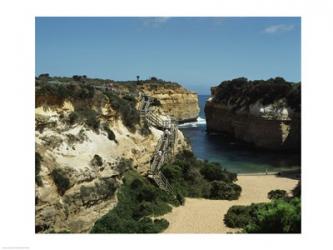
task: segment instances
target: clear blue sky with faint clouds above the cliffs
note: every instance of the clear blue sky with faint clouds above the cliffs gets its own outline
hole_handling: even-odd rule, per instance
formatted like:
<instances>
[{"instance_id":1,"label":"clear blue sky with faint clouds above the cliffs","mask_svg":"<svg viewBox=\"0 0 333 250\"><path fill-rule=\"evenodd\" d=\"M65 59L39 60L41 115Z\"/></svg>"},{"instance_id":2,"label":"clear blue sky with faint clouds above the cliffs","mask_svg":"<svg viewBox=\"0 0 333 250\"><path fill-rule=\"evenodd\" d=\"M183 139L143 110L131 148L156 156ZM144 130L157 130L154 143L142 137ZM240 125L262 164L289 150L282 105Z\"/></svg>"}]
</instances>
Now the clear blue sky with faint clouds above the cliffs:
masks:
<instances>
[{"instance_id":1,"label":"clear blue sky with faint clouds above the cliffs","mask_svg":"<svg viewBox=\"0 0 333 250\"><path fill-rule=\"evenodd\" d=\"M299 17L37 17L36 75L156 76L199 94L223 80L301 80Z\"/></svg>"}]
</instances>

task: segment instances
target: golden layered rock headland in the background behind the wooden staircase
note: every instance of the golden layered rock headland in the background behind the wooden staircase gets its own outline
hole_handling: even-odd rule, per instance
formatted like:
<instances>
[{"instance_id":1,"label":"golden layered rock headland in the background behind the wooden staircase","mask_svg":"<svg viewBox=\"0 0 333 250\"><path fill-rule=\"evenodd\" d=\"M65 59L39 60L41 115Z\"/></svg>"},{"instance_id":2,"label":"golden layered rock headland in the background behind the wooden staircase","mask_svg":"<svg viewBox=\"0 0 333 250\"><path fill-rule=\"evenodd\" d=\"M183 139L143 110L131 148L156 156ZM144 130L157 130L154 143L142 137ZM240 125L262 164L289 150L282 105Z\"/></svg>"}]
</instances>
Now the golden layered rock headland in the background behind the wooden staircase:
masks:
<instances>
[{"instance_id":1,"label":"golden layered rock headland in the background behind the wooden staircase","mask_svg":"<svg viewBox=\"0 0 333 250\"><path fill-rule=\"evenodd\" d=\"M158 99L161 110L176 118L179 123L196 121L199 116L198 95L179 85L142 85L139 89Z\"/></svg>"}]
</instances>

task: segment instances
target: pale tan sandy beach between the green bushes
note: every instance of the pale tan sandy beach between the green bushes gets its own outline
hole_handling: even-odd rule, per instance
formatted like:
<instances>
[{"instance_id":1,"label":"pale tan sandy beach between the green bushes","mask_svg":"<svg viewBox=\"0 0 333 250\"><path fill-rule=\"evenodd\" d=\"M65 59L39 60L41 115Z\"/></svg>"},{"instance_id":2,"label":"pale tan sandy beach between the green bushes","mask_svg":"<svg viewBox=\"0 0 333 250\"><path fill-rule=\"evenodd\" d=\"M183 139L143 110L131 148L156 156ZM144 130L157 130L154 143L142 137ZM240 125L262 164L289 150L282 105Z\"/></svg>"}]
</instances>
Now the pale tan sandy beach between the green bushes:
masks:
<instances>
[{"instance_id":1,"label":"pale tan sandy beach between the green bushes","mask_svg":"<svg viewBox=\"0 0 333 250\"><path fill-rule=\"evenodd\" d=\"M269 201L267 193L273 189L290 192L297 180L263 176L238 176L237 183L242 187L238 200L207 200L187 198L184 206L173 208L172 212L163 216L170 223L165 233L228 233L238 229L228 228L223 218L229 207L233 205L249 205L251 203Z\"/></svg>"}]
</instances>

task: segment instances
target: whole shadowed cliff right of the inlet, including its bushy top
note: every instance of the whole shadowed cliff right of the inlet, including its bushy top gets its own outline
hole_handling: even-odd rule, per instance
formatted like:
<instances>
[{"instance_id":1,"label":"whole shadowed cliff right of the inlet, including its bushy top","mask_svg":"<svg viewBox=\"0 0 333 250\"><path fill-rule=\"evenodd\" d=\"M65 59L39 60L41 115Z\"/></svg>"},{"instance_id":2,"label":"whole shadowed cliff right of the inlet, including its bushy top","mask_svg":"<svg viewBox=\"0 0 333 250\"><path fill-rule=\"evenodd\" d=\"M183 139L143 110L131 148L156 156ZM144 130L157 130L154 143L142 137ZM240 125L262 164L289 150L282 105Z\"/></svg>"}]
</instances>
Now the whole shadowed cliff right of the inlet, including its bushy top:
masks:
<instances>
[{"instance_id":1,"label":"whole shadowed cliff right of the inlet, including its bushy top","mask_svg":"<svg viewBox=\"0 0 333 250\"><path fill-rule=\"evenodd\" d=\"M299 151L300 86L278 84L229 81L213 87L205 105L207 130L259 148Z\"/></svg>"}]
</instances>

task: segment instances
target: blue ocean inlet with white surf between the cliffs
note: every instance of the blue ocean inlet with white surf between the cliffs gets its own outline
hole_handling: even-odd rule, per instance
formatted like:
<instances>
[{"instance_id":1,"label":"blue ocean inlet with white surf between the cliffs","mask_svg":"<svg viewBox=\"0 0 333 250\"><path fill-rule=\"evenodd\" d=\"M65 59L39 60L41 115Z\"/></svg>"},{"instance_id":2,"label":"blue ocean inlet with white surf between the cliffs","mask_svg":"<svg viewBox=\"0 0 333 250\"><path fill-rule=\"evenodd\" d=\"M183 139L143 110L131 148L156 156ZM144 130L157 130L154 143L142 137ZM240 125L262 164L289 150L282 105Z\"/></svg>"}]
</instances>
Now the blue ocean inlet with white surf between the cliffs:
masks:
<instances>
[{"instance_id":1,"label":"blue ocean inlet with white surf between the cliffs","mask_svg":"<svg viewBox=\"0 0 333 250\"><path fill-rule=\"evenodd\" d=\"M207 134L204 107L208 97L199 95L197 122L179 125L179 129L191 141L192 150L198 158L219 162L236 173L280 171L300 166L300 154L257 150L223 135Z\"/></svg>"}]
</instances>

